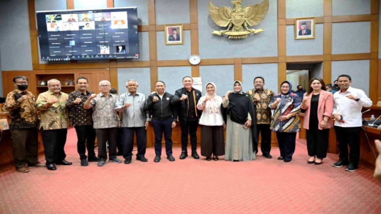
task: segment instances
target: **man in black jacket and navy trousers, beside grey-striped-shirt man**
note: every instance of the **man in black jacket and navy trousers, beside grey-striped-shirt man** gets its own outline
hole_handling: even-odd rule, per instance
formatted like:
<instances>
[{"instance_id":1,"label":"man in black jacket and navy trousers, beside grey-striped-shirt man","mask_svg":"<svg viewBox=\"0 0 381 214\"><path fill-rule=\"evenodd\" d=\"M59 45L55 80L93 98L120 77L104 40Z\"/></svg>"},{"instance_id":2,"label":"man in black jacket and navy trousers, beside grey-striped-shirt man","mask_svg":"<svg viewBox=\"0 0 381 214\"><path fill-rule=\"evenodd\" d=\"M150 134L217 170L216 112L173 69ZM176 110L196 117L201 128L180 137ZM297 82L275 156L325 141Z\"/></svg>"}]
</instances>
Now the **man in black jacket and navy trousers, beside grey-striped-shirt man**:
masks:
<instances>
[{"instance_id":1,"label":"man in black jacket and navy trousers, beside grey-striped-shirt man","mask_svg":"<svg viewBox=\"0 0 381 214\"><path fill-rule=\"evenodd\" d=\"M165 92L165 83L156 81L156 92L152 92L147 99L146 110L152 116L152 126L155 133L155 159L159 162L162 154L162 139L164 133L165 153L169 161L174 161L172 155L172 128L176 127L177 111L171 103L173 95Z\"/></svg>"}]
</instances>

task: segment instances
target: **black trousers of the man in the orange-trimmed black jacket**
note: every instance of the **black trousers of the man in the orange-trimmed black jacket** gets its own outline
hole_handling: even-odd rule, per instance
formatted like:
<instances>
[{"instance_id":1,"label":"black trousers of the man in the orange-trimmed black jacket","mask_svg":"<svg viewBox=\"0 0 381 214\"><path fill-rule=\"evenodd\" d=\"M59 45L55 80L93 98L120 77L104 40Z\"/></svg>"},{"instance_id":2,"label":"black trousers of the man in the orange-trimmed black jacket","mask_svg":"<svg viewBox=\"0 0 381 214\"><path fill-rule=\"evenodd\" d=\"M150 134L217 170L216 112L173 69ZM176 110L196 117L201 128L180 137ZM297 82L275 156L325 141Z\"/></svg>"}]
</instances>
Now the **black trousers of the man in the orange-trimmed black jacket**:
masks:
<instances>
[{"instance_id":1,"label":"black trousers of the man in the orange-trimmed black jacket","mask_svg":"<svg viewBox=\"0 0 381 214\"><path fill-rule=\"evenodd\" d=\"M198 121L180 121L181 128L181 151L187 152L188 134L191 136L192 152L197 150L197 125Z\"/></svg>"}]
</instances>

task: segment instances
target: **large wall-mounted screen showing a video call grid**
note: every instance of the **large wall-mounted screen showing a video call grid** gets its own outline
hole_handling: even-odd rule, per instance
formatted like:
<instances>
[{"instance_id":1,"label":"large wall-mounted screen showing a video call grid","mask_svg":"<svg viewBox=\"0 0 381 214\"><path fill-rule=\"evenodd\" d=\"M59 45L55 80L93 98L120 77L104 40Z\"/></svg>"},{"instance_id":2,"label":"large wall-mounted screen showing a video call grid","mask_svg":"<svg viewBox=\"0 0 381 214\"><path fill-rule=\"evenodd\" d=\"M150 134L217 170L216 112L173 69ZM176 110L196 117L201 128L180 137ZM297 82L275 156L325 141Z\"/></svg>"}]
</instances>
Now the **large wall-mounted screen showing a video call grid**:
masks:
<instances>
[{"instance_id":1,"label":"large wall-mounted screen showing a video call grid","mask_svg":"<svg viewBox=\"0 0 381 214\"><path fill-rule=\"evenodd\" d=\"M37 11L42 61L139 58L137 7Z\"/></svg>"}]
</instances>

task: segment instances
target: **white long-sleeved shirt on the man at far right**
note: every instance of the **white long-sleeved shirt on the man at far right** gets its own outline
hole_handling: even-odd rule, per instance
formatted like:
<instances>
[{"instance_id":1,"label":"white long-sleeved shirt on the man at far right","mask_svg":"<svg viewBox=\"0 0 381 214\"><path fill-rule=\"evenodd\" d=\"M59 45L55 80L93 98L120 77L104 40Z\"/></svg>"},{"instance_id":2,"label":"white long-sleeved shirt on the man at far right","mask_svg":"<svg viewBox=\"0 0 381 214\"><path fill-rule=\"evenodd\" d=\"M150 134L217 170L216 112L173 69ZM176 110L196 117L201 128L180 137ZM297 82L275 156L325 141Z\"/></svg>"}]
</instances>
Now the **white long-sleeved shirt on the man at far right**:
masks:
<instances>
[{"instance_id":1,"label":"white long-sleeved shirt on the man at far right","mask_svg":"<svg viewBox=\"0 0 381 214\"><path fill-rule=\"evenodd\" d=\"M359 98L359 101L349 99L349 94ZM359 127L362 126L362 107L370 107L373 102L367 97L365 92L361 89L352 88L349 86L346 92L342 93L341 90L333 94L333 113L343 115L343 121L335 121L335 126L341 127Z\"/></svg>"}]
</instances>

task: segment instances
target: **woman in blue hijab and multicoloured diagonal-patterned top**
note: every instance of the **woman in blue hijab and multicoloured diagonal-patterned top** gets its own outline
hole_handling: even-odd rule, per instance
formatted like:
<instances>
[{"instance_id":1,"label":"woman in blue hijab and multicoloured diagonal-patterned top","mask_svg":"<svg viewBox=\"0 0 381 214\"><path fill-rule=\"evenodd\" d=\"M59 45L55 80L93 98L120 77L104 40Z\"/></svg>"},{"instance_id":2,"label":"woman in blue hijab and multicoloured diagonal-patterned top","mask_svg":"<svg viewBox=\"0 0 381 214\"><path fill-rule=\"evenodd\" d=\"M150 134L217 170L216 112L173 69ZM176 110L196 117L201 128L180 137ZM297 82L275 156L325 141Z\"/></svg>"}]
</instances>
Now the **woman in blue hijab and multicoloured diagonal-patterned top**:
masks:
<instances>
[{"instance_id":1,"label":"woman in blue hijab and multicoloured diagonal-patterned top","mask_svg":"<svg viewBox=\"0 0 381 214\"><path fill-rule=\"evenodd\" d=\"M292 85L288 81L280 84L280 94L271 99L269 107L274 110L270 129L277 134L280 157L278 160L290 162L295 152L296 132L300 129L301 98L291 93Z\"/></svg>"}]
</instances>

